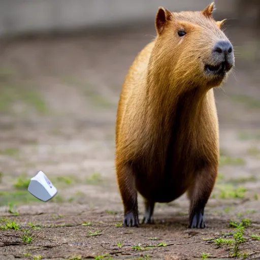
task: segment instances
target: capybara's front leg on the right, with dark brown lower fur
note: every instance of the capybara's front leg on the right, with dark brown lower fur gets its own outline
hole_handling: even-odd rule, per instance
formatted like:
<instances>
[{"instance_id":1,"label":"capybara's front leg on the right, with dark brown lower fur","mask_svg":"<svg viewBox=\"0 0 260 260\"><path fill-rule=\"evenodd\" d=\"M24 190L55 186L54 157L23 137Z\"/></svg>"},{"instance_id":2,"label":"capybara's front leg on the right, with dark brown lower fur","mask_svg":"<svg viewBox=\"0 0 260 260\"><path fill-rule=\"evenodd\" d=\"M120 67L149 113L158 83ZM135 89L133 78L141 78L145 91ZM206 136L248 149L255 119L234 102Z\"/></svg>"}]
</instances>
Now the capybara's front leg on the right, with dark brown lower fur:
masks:
<instances>
[{"instance_id":1,"label":"capybara's front leg on the right, with dark brown lower fur","mask_svg":"<svg viewBox=\"0 0 260 260\"><path fill-rule=\"evenodd\" d=\"M197 173L194 183L188 190L190 199L188 228L204 229L204 209L212 192L217 176L217 169L206 167Z\"/></svg>"}]
</instances>

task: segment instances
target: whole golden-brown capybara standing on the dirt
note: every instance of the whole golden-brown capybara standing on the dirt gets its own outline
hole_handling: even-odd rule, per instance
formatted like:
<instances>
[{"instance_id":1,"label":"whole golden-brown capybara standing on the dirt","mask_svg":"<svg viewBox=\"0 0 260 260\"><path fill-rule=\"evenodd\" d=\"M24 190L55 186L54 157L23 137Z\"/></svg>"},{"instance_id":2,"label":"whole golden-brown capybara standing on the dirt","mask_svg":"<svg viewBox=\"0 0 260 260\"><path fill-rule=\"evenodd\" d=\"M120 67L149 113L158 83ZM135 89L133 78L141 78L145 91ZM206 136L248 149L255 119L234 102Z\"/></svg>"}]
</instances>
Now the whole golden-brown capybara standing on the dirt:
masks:
<instances>
[{"instance_id":1,"label":"whole golden-brown capybara standing on the dirt","mask_svg":"<svg viewBox=\"0 0 260 260\"><path fill-rule=\"evenodd\" d=\"M189 227L204 228L204 208L218 170L218 119L213 87L234 65L233 48L211 17L159 8L156 39L125 78L116 121L116 173L124 225L138 226L137 192L145 223L156 202L188 192Z\"/></svg>"}]
</instances>

